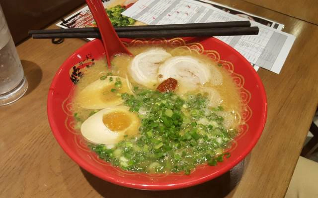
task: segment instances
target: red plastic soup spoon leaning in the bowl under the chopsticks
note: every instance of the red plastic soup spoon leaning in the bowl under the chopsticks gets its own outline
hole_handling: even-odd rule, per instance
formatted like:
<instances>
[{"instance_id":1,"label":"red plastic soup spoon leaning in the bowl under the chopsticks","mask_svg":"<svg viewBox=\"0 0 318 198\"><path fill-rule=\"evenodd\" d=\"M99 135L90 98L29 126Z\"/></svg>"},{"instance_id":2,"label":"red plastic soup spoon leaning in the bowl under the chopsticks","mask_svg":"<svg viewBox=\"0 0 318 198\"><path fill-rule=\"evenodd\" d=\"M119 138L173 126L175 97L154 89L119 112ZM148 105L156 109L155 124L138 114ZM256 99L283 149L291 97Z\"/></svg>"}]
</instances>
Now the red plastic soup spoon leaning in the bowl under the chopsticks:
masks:
<instances>
[{"instance_id":1,"label":"red plastic soup spoon leaning in the bowl under the chopsticks","mask_svg":"<svg viewBox=\"0 0 318 198\"><path fill-rule=\"evenodd\" d=\"M86 3L93 14L93 17L101 34L101 39L106 52L108 68L111 67L110 60L113 55L126 53L132 55L130 51L119 40L101 0L86 0Z\"/></svg>"}]
</instances>

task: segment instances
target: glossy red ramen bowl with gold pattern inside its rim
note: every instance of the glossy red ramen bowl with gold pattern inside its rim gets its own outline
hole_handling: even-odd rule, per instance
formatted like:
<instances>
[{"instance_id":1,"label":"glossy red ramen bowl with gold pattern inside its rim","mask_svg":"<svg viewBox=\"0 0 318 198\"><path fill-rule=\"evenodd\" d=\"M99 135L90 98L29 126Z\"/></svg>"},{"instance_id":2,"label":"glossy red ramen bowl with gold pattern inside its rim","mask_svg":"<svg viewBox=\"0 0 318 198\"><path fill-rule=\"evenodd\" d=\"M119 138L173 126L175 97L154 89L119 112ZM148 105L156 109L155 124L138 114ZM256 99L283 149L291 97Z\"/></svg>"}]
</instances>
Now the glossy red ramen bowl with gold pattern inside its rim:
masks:
<instances>
[{"instance_id":1,"label":"glossy red ramen bowl with gold pattern inside its rim","mask_svg":"<svg viewBox=\"0 0 318 198\"><path fill-rule=\"evenodd\" d=\"M93 40L71 55L57 71L48 94L48 118L56 140L64 151L91 174L108 182L135 189L172 190L194 186L212 180L237 165L251 151L262 134L266 116L267 101L263 84L251 64L238 51L216 38L174 38L131 40L122 39L127 46L163 44L182 47L197 53L204 53L223 66L239 87L244 110L238 136L227 150L231 157L217 166L199 165L190 175L181 173L146 174L124 171L112 166L90 151L79 132L75 130L72 114L72 97L75 83L82 68L90 66L103 57L100 40Z\"/></svg>"}]
</instances>

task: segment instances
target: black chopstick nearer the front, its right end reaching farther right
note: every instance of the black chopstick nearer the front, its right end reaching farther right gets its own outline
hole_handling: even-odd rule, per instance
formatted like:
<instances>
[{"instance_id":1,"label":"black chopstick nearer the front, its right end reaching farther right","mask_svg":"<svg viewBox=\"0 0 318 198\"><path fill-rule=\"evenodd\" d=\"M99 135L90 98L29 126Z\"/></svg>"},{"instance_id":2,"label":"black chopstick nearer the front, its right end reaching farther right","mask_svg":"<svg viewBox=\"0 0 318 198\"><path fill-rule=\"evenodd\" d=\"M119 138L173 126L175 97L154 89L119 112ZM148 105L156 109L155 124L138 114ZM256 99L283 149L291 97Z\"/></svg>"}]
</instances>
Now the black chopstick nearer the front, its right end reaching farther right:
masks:
<instances>
[{"instance_id":1,"label":"black chopstick nearer the front, its right end reaching farther right","mask_svg":"<svg viewBox=\"0 0 318 198\"><path fill-rule=\"evenodd\" d=\"M120 38L156 38L156 37L212 37L212 36L236 36L257 35L258 27L232 27L189 30L158 30L158 31L132 31L117 32ZM81 33L52 33L32 34L33 39L59 39L59 38L101 38L99 32Z\"/></svg>"}]
</instances>

